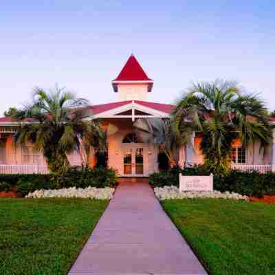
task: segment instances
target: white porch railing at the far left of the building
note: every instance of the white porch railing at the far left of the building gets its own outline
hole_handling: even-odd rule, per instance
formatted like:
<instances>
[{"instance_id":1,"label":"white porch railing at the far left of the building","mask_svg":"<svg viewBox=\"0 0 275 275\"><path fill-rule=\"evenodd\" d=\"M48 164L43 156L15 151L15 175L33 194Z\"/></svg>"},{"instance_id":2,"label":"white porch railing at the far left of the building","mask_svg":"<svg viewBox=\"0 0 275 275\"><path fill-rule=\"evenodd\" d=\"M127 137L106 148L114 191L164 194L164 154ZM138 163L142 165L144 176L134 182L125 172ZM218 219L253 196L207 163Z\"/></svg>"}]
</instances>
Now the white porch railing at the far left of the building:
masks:
<instances>
[{"instance_id":1,"label":"white porch railing at the far left of the building","mask_svg":"<svg viewBox=\"0 0 275 275\"><path fill-rule=\"evenodd\" d=\"M0 164L0 174L47 174L47 165L8 165Z\"/></svg>"}]
</instances>

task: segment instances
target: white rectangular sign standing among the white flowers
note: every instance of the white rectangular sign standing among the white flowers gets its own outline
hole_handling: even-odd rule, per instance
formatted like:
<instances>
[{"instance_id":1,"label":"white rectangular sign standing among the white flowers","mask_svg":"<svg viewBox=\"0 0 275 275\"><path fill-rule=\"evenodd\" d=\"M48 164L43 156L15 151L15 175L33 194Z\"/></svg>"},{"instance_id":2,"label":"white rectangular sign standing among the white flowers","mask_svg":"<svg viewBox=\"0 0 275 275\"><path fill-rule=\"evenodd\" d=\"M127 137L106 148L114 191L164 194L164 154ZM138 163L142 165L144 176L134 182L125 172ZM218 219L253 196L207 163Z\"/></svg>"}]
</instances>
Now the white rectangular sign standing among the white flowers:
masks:
<instances>
[{"instance_id":1,"label":"white rectangular sign standing among the white flowers","mask_svg":"<svg viewBox=\"0 0 275 275\"><path fill-rule=\"evenodd\" d=\"M179 175L179 191L212 191L213 175L183 176Z\"/></svg>"}]
</instances>

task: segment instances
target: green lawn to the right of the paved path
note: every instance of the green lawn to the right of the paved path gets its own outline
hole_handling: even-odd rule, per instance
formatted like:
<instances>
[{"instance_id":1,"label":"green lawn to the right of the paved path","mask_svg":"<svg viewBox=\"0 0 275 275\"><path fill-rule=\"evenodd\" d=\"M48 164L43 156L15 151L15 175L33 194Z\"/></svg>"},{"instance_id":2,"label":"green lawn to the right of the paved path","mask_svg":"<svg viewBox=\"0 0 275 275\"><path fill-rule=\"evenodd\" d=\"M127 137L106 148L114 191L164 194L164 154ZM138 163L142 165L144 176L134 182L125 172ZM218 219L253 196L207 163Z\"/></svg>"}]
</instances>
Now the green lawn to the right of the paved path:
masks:
<instances>
[{"instance_id":1,"label":"green lawn to the right of the paved path","mask_svg":"<svg viewBox=\"0 0 275 275\"><path fill-rule=\"evenodd\" d=\"M210 274L275 274L275 205L222 199L162 205Z\"/></svg>"}]
</instances>

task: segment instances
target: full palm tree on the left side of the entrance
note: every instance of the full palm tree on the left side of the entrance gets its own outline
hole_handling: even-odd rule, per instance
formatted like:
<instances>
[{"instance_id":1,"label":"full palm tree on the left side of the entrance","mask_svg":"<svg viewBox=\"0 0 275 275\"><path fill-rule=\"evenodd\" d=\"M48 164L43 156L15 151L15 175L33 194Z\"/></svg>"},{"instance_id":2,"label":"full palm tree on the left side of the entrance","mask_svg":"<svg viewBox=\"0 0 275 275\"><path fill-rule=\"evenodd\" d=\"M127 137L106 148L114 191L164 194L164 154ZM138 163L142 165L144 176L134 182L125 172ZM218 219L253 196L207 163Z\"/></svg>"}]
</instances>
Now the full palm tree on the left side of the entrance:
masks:
<instances>
[{"instance_id":1,"label":"full palm tree on the left side of the entrance","mask_svg":"<svg viewBox=\"0 0 275 275\"><path fill-rule=\"evenodd\" d=\"M56 89L46 92L36 88L31 104L17 119L23 121L14 135L17 144L31 142L45 156L52 173L63 173L69 166L67 154L76 149L87 153L89 161L91 146L104 146L104 131L98 120L83 121L87 100Z\"/></svg>"}]
</instances>

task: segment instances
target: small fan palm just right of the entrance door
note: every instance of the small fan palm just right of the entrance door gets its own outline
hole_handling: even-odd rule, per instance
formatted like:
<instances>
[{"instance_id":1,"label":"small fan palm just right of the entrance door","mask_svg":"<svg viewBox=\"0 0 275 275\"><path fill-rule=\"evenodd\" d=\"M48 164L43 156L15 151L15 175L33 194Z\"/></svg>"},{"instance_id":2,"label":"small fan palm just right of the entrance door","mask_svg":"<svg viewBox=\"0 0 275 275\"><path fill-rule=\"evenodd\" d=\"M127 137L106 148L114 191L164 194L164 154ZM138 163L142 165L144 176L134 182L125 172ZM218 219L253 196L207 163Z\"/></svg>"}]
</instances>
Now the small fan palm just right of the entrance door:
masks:
<instances>
[{"instance_id":1,"label":"small fan palm just right of the entrance door","mask_svg":"<svg viewBox=\"0 0 275 275\"><path fill-rule=\"evenodd\" d=\"M135 121L134 126L142 135L142 140L153 144L159 153L164 153L170 166L177 164L176 155L179 148L177 135L171 128L170 120L160 118L140 118Z\"/></svg>"}]
</instances>

